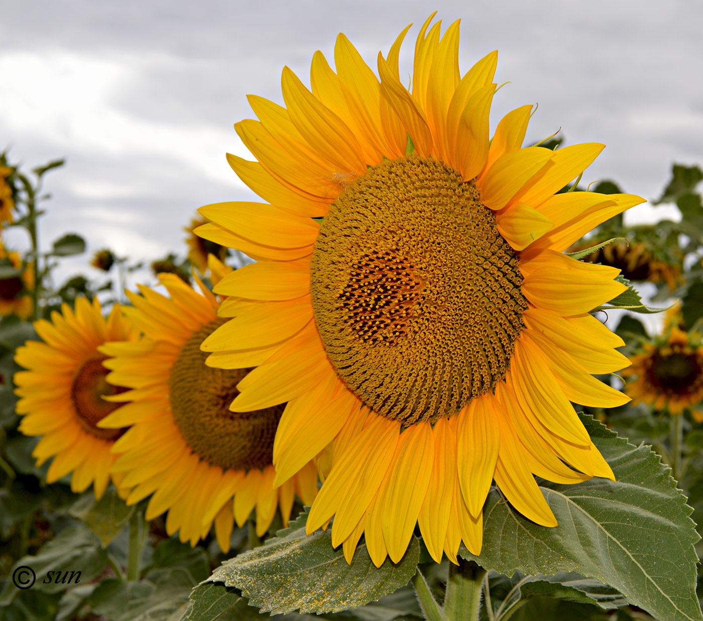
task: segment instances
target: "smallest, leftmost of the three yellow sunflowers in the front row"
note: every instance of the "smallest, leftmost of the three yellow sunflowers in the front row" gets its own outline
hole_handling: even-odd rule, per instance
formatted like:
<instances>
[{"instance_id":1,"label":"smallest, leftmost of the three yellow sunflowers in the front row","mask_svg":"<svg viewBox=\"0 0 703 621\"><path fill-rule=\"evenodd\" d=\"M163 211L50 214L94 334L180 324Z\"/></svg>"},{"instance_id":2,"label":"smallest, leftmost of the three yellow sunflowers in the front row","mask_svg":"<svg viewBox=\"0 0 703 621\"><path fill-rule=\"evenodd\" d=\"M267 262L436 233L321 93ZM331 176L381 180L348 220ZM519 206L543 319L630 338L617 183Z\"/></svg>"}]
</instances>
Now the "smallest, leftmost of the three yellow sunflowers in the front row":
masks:
<instances>
[{"instance_id":1,"label":"smallest, leftmost of the three yellow sunflowers in the front row","mask_svg":"<svg viewBox=\"0 0 703 621\"><path fill-rule=\"evenodd\" d=\"M15 373L20 431L42 436L32 452L37 465L53 456L48 483L72 472L72 491L83 492L93 483L100 498L115 462L110 447L124 430L102 429L98 423L122 405L104 397L124 388L105 381L107 356L97 348L110 341L134 341L138 333L124 321L120 306L103 318L97 298L92 304L79 298L75 311L67 304L61 310L51 313L51 322L34 322L44 342L27 341L15 354L18 365L27 369ZM114 480L122 487L119 476Z\"/></svg>"}]
</instances>

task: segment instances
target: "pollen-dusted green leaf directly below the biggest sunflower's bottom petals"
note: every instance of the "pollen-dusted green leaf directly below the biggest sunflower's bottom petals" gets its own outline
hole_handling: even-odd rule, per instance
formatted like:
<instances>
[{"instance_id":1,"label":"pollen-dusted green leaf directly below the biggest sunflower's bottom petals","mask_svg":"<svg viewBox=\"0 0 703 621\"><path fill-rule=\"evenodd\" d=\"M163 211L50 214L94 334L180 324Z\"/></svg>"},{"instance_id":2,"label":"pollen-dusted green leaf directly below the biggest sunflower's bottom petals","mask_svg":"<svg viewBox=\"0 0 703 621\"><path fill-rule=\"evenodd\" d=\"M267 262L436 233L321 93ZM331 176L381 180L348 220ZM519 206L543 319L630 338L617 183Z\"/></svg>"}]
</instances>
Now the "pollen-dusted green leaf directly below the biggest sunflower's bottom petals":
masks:
<instances>
[{"instance_id":1,"label":"pollen-dusted green leaf directly below the biggest sunflower's bottom petals","mask_svg":"<svg viewBox=\"0 0 703 621\"><path fill-rule=\"evenodd\" d=\"M224 582L240 589L250 605L264 612L327 613L378 600L407 584L415 574L420 556L415 537L397 565L387 558L376 568L364 544L356 547L352 565L347 565L342 547L336 551L332 547L330 530L307 537L306 522L307 510L263 546L214 570L198 589L207 582Z\"/></svg>"}]
</instances>

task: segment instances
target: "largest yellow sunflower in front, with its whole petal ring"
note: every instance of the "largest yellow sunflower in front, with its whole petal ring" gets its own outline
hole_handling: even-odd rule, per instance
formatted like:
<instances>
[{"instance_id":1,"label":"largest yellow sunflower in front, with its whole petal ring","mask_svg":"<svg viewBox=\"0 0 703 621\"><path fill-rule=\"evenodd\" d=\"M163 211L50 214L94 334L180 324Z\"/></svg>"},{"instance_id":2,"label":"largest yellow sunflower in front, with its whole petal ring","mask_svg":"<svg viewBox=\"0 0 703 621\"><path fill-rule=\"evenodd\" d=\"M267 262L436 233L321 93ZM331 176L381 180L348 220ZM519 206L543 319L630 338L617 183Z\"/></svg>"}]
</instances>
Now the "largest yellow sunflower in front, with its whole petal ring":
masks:
<instances>
[{"instance_id":1,"label":"largest yellow sunflower in front, with its whole petal ring","mask_svg":"<svg viewBox=\"0 0 703 621\"><path fill-rule=\"evenodd\" d=\"M234 319L203 344L209 365L258 365L231 410L288 401L276 485L333 443L307 530L334 516L333 544L351 561L365 533L377 566L416 522L437 561L461 540L477 553L493 479L555 525L533 473L612 478L569 400L628 400L591 377L628 365L588 314L624 291L619 270L562 251L643 199L555 195L603 145L520 148L529 105L489 140L497 54L461 77L458 22L440 37L430 20L412 93L406 29L380 79L340 34L336 73L314 55L312 91L285 67L286 107L250 96L260 121L236 129L259 161L228 159L268 202L203 207L214 223L197 231L258 261L215 287Z\"/></svg>"}]
</instances>

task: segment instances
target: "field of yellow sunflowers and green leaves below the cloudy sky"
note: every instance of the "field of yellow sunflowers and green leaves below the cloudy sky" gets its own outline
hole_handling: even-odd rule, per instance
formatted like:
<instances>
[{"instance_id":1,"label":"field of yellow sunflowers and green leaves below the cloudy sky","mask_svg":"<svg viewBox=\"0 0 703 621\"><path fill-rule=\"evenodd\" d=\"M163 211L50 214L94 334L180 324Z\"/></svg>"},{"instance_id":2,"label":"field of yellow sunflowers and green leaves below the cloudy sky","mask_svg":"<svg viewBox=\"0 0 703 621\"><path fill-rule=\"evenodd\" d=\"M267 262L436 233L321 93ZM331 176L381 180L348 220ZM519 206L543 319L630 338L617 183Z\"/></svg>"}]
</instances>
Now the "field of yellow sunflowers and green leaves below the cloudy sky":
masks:
<instances>
[{"instance_id":1,"label":"field of yellow sunflowers and green leaves below the cloudy sky","mask_svg":"<svg viewBox=\"0 0 703 621\"><path fill-rule=\"evenodd\" d=\"M433 18L248 96L260 201L149 265L59 276L0 154L0 620L703 621L703 171L629 223Z\"/></svg>"}]
</instances>

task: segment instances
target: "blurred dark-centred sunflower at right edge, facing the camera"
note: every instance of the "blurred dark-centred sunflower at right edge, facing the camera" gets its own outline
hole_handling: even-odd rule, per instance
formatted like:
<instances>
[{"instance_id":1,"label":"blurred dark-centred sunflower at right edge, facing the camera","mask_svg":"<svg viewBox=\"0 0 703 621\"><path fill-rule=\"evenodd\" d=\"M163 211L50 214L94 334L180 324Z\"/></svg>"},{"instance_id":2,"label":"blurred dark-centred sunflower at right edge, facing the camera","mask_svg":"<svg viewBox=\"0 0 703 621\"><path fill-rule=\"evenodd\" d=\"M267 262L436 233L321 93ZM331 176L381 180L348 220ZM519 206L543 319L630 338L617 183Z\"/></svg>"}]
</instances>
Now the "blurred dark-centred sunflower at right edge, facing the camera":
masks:
<instances>
[{"instance_id":1,"label":"blurred dark-centred sunflower at right edge, facing the camera","mask_svg":"<svg viewBox=\"0 0 703 621\"><path fill-rule=\"evenodd\" d=\"M681 329L676 313L667 315L664 333L643 344L631 358L632 366L621 372L628 378L625 391L634 404L674 415L688 409L702 422L703 412L694 406L703 399L703 340L697 332Z\"/></svg>"}]
</instances>

